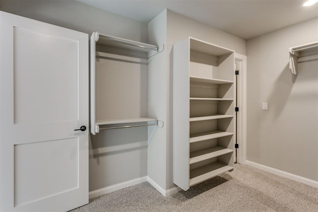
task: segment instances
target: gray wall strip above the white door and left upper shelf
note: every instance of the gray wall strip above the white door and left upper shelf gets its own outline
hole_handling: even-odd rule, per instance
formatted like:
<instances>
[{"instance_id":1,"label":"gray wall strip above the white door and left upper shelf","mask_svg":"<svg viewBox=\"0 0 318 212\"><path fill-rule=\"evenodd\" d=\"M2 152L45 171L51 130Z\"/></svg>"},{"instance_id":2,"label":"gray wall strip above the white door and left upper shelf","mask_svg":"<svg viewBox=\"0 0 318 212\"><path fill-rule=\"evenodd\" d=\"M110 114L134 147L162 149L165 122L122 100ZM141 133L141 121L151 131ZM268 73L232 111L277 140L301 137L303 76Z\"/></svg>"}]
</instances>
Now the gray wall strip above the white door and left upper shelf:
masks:
<instances>
[{"instance_id":1,"label":"gray wall strip above the white door and left upper shelf","mask_svg":"<svg viewBox=\"0 0 318 212\"><path fill-rule=\"evenodd\" d=\"M148 41L147 24L73 0L0 0L1 10L91 35Z\"/></svg>"}]
</instances>

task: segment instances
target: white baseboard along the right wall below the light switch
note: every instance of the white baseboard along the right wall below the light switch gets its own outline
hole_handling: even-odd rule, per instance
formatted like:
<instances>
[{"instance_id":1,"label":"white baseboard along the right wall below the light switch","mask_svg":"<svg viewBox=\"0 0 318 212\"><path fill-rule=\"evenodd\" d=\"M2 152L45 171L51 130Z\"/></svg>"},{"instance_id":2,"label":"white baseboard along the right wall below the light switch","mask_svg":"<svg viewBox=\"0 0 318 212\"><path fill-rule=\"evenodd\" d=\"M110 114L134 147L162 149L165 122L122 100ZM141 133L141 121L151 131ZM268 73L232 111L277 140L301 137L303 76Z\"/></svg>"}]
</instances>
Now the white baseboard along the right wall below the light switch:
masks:
<instances>
[{"instance_id":1,"label":"white baseboard along the right wall below the light switch","mask_svg":"<svg viewBox=\"0 0 318 212\"><path fill-rule=\"evenodd\" d=\"M301 176L298 176L298 175L295 175L295 174L291 174L289 172L281 171L279 169L274 169L274 168L271 168L269 166L264 166L262 164L255 163L255 162L252 162L252 161L249 161L249 160L246 160L246 165L250 165L250 166L253 166L255 168L258 168L258 169L261 169L261 170L264 170L264 171L268 171L268 172L271 172L273 174L276 174L276 175L279 175L279 176L282 176L282 177L286 177L288 179L295 180L297 182L305 183L307 185L310 185L310 186L318 188L318 181L315 181L315 180L311 180L311 179L308 179L308 178L305 178L305 177L301 177Z\"/></svg>"}]
</instances>

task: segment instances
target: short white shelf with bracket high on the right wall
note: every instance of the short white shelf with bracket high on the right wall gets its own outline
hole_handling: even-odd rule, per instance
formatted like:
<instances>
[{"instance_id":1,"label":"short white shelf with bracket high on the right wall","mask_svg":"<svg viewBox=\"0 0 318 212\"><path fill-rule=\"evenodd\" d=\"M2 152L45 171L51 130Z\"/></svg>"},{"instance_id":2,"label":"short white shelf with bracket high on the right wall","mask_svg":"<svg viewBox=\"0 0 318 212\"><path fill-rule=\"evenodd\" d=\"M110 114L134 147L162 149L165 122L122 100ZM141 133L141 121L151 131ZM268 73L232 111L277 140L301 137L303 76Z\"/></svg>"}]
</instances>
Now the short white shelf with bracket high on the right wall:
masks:
<instances>
[{"instance_id":1,"label":"short white shelf with bracket high on the right wall","mask_svg":"<svg viewBox=\"0 0 318 212\"><path fill-rule=\"evenodd\" d=\"M318 59L318 41L289 48L289 69L297 75L298 62Z\"/></svg>"}]
</instances>

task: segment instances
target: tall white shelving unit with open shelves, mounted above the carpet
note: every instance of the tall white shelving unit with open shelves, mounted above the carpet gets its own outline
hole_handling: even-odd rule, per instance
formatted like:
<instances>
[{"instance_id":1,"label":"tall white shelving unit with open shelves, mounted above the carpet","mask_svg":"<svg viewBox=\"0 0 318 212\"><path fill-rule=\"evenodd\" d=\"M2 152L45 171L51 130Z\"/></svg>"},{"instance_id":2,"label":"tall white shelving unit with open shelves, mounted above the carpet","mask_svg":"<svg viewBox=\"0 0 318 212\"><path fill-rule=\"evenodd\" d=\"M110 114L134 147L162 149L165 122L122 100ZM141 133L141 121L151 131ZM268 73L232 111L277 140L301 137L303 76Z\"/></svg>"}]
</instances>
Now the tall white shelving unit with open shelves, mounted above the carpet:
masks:
<instances>
[{"instance_id":1,"label":"tall white shelving unit with open shelves, mounted above the carpet","mask_svg":"<svg viewBox=\"0 0 318 212\"><path fill-rule=\"evenodd\" d=\"M173 183L188 190L234 168L234 51L173 45Z\"/></svg>"}]
</instances>

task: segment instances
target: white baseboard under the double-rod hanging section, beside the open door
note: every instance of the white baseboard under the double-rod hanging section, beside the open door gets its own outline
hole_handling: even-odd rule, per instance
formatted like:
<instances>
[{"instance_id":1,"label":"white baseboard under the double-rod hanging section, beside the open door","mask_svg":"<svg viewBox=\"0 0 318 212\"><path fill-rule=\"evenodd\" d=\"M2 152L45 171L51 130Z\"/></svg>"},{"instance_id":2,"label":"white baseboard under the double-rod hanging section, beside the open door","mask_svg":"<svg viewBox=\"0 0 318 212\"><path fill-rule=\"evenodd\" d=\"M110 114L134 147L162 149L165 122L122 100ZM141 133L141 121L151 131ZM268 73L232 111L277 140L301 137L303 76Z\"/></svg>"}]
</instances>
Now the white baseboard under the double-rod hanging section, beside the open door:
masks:
<instances>
[{"instance_id":1,"label":"white baseboard under the double-rod hanging section, beside the open door","mask_svg":"<svg viewBox=\"0 0 318 212\"><path fill-rule=\"evenodd\" d=\"M98 196L101 196L101 195L104 195L104 194L109 194L111 192L118 191L120 189L124 189L124 188L130 187L130 186L134 186L134 185L139 184L139 183L147 182L147 180L148 180L148 177L145 176L145 177L140 177L140 178L136 178L136 179L133 179L133 180L129 180L129 181L126 181L126 182L123 182L123 183L118 183L118 184L115 184L115 185L112 185L112 186L108 186L108 187L105 187L105 188L102 188L102 189L97 189L95 191L89 192L88 193L88 198L91 199L91 198L98 197Z\"/></svg>"}]
</instances>

